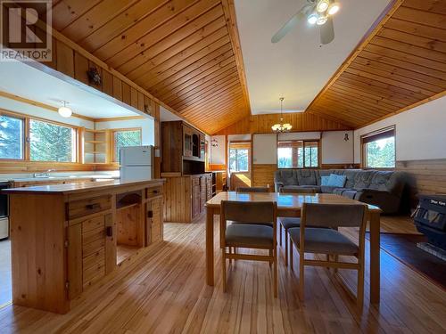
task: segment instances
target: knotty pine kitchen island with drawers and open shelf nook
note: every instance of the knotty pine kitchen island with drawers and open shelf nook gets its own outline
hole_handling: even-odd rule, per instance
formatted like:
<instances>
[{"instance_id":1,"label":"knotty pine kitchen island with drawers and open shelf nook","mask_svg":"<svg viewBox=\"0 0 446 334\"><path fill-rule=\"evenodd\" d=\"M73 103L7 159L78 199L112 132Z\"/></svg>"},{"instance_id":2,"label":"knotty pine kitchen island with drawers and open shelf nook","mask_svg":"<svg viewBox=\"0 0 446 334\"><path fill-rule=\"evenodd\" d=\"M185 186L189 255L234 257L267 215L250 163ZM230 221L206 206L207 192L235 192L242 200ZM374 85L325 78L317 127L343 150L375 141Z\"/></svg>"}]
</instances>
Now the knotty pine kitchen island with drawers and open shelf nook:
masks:
<instances>
[{"instance_id":1,"label":"knotty pine kitchen island with drawers and open shelf nook","mask_svg":"<svg viewBox=\"0 0 446 334\"><path fill-rule=\"evenodd\" d=\"M4 190L10 195L12 303L65 314L84 291L136 254L129 250L161 241L163 183L112 180Z\"/></svg>"}]
</instances>

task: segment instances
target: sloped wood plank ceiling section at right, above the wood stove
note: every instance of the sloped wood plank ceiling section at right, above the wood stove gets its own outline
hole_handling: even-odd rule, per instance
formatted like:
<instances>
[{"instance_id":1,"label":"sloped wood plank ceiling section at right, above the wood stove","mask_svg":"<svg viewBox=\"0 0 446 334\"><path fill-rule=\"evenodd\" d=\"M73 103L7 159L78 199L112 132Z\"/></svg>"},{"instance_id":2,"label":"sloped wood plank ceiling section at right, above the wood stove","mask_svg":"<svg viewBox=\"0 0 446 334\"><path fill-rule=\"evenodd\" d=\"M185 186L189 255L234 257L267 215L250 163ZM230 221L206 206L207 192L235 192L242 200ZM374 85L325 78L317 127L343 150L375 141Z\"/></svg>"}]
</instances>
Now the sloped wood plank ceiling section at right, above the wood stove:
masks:
<instances>
[{"instance_id":1,"label":"sloped wood plank ceiling section at right, above the wood stove","mask_svg":"<svg viewBox=\"0 0 446 334\"><path fill-rule=\"evenodd\" d=\"M360 127L446 90L446 1L394 1L307 111Z\"/></svg>"}]
</instances>

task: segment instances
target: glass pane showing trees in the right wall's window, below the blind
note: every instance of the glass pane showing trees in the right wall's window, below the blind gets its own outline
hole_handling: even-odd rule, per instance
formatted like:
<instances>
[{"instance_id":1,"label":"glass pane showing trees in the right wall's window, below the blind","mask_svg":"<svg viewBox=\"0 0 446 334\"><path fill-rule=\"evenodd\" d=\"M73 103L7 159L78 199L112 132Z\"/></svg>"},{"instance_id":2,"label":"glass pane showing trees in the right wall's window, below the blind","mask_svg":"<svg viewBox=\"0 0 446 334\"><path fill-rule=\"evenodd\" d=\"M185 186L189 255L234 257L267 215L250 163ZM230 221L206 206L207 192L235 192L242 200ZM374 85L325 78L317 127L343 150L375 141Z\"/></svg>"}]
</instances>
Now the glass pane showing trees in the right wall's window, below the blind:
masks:
<instances>
[{"instance_id":1,"label":"glass pane showing trees in the right wall's window, below the blind","mask_svg":"<svg viewBox=\"0 0 446 334\"><path fill-rule=\"evenodd\" d=\"M395 137L378 139L366 143L367 167L395 167Z\"/></svg>"}]
</instances>

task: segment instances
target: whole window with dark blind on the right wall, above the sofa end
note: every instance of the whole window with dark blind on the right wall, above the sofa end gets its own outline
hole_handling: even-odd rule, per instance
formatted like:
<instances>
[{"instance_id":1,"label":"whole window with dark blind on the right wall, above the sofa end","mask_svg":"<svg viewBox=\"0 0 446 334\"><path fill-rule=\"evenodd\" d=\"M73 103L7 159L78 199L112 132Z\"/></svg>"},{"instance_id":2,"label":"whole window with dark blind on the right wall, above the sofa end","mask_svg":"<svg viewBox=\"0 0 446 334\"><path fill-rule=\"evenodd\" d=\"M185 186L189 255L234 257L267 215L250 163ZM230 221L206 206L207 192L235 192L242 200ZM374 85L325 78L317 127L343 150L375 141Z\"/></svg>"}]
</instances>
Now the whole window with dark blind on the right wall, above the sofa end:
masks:
<instances>
[{"instance_id":1,"label":"whole window with dark blind on the right wall, above the sofa end","mask_svg":"<svg viewBox=\"0 0 446 334\"><path fill-rule=\"evenodd\" d=\"M386 127L361 137L362 165L366 168L395 167L395 127Z\"/></svg>"}]
</instances>

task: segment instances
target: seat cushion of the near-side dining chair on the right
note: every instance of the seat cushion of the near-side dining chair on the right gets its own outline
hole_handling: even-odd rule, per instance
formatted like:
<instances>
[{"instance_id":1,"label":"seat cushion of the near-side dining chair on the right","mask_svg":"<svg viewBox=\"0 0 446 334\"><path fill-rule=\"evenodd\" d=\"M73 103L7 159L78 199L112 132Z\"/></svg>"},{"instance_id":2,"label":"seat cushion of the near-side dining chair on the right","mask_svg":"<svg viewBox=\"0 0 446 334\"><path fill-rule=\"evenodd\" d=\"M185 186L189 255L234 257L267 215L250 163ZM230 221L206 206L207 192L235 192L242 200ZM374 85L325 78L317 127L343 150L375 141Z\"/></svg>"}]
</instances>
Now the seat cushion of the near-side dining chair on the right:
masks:
<instances>
[{"instance_id":1,"label":"seat cushion of the near-side dining chair on the right","mask_svg":"<svg viewBox=\"0 0 446 334\"><path fill-rule=\"evenodd\" d=\"M288 230L288 233L293 240L293 244L300 248L301 229L293 227ZM304 252L354 256L358 254L359 248L341 232L332 229L307 227L305 228Z\"/></svg>"}]
</instances>

